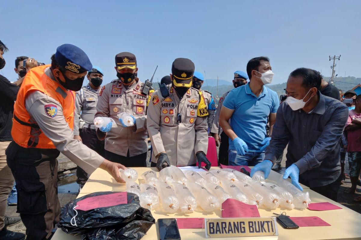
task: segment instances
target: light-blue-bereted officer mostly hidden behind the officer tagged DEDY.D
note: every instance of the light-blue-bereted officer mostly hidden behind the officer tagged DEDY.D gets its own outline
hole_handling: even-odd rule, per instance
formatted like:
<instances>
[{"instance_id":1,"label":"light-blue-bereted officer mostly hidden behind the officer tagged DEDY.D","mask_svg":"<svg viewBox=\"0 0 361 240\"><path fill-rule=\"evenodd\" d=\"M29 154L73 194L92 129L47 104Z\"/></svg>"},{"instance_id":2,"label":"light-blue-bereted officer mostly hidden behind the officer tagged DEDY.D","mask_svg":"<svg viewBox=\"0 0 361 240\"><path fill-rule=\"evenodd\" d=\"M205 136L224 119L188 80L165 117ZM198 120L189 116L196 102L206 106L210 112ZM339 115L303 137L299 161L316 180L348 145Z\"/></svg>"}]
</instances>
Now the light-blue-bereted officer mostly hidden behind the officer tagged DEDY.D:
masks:
<instances>
[{"instance_id":1,"label":"light-blue-bereted officer mostly hidden behind the officer tagged DEDY.D","mask_svg":"<svg viewBox=\"0 0 361 240\"><path fill-rule=\"evenodd\" d=\"M214 103L212 93L205 90L204 91L201 90L203 82L204 82L203 74L200 72L194 72L192 79L192 87L199 90L201 94L204 95L205 104L208 106L207 121L208 121L208 132L210 132L213 126L214 115L216 114L216 104Z\"/></svg>"}]
</instances>

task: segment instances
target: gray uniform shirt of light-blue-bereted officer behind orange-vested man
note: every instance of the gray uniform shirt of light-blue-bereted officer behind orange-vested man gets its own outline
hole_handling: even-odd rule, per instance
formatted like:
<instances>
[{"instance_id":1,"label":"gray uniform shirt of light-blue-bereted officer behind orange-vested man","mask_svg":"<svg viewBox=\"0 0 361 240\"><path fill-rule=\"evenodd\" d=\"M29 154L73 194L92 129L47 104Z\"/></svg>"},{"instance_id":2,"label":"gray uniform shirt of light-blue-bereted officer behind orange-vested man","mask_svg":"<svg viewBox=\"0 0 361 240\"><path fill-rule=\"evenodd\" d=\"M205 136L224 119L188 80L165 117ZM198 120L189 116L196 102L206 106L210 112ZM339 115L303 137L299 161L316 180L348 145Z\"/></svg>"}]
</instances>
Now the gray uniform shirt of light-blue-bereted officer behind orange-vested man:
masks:
<instances>
[{"instance_id":1,"label":"gray uniform shirt of light-blue-bereted officer behind orange-vested man","mask_svg":"<svg viewBox=\"0 0 361 240\"><path fill-rule=\"evenodd\" d=\"M83 92L83 96L81 93ZM99 89L92 89L89 85L83 86L82 91L78 91L75 97L75 114L74 114L74 135L79 135L79 119L82 118L85 123L94 124L96 113L96 104L98 102ZM83 101L82 101L83 98ZM80 112L82 114L80 115Z\"/></svg>"}]
</instances>

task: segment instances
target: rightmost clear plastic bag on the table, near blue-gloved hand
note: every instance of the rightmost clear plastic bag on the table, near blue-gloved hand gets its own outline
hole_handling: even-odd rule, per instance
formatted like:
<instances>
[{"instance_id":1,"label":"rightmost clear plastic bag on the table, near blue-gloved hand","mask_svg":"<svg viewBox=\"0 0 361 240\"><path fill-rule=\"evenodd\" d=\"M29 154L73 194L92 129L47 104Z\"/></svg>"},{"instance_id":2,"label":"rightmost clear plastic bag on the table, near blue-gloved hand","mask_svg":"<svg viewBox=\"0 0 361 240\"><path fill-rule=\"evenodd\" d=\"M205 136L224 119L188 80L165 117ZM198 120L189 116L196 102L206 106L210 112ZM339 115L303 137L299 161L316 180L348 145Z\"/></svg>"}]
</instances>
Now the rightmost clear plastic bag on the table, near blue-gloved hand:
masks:
<instances>
[{"instance_id":1,"label":"rightmost clear plastic bag on the table, near blue-gloved hand","mask_svg":"<svg viewBox=\"0 0 361 240\"><path fill-rule=\"evenodd\" d=\"M278 185L289 191L293 195L293 204L295 208L305 209L311 203L310 194L299 190L296 186L283 179L281 176L278 180Z\"/></svg>"}]
</instances>

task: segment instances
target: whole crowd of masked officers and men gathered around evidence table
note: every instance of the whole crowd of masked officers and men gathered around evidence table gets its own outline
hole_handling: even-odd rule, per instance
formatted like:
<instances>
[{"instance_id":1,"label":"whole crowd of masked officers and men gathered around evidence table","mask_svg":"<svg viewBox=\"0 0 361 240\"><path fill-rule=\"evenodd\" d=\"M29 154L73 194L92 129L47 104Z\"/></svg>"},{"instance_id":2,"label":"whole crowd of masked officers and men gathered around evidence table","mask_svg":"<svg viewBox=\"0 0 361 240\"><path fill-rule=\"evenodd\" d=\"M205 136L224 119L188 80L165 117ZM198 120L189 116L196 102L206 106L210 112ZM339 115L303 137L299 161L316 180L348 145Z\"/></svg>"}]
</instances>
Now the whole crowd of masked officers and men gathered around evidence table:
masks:
<instances>
[{"instance_id":1,"label":"whole crowd of masked officers and men gathered around evidence table","mask_svg":"<svg viewBox=\"0 0 361 240\"><path fill-rule=\"evenodd\" d=\"M0 69L6 51L0 41ZM234 72L234 89L222 95L216 108L190 59L175 59L157 90L147 89L137 77L134 54L117 54L114 65L114 80L102 86L110 77L79 47L64 44L49 65L18 57L15 82L0 75L0 240L24 239L6 229L20 220L27 239L52 236L60 215L60 152L77 164L80 189L96 168L122 183L119 169L147 166L148 137L151 167L158 170L201 163L209 169L208 142L216 141L219 164L255 166L251 176L263 171L266 178L280 168L288 146L283 178L335 201L348 177L347 152L352 182L347 193L355 193L361 169L361 95L339 92L316 70L292 71L287 98L280 101L265 86L274 75L270 59L252 58L246 72ZM122 113L129 114L128 121ZM112 121L98 128L97 117ZM6 199L15 189L21 219L5 216Z\"/></svg>"}]
</instances>

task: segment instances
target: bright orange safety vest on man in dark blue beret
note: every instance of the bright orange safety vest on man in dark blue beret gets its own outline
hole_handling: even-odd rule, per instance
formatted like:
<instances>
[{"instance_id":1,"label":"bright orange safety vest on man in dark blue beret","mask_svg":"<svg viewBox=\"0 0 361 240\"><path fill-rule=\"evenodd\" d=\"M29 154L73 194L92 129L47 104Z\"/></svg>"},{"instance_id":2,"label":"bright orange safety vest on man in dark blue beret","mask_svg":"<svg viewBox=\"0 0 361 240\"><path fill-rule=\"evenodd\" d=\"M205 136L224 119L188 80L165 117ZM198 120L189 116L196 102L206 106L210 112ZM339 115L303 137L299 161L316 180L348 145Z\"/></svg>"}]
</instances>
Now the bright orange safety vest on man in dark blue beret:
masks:
<instances>
[{"instance_id":1,"label":"bright orange safety vest on man in dark blue beret","mask_svg":"<svg viewBox=\"0 0 361 240\"><path fill-rule=\"evenodd\" d=\"M48 77L44 73L47 67L50 67L50 65L35 67L26 74L14 105L11 135L13 140L23 148L55 149L53 142L45 136L38 124L34 120L29 121L31 117L26 111L25 99L31 91L43 92L58 101L63 109L65 121L68 123L69 128L73 130L74 127L75 93L64 89L59 83ZM65 92L65 98L59 93L62 91L56 91L58 88ZM52 121L51 117L49 117L49 121Z\"/></svg>"}]
</instances>

